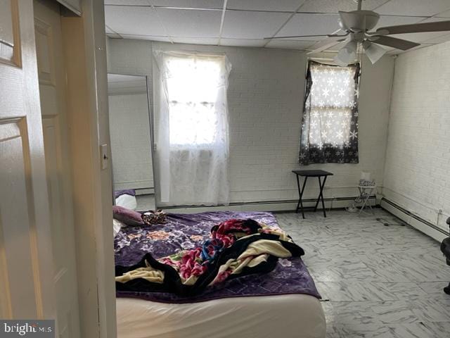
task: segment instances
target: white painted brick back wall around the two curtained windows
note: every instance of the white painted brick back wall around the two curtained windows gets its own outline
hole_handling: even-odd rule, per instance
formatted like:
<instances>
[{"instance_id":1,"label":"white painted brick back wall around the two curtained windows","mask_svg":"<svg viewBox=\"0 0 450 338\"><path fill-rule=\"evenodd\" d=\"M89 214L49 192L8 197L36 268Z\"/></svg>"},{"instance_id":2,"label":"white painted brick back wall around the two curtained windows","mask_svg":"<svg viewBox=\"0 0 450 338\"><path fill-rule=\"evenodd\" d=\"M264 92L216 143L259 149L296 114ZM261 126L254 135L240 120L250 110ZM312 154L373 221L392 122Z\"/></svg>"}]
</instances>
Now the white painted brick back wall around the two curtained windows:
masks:
<instances>
[{"instance_id":1,"label":"white painted brick back wall around the two curtained windows","mask_svg":"<svg viewBox=\"0 0 450 338\"><path fill-rule=\"evenodd\" d=\"M151 75L154 49L225 52L233 65L229 79L231 201L297 199L295 175L304 94L306 56L301 51L111 39L112 73ZM329 56L328 56L329 57ZM387 118L394 61L386 56L375 66L364 59L359 117L359 164L309 165L335 175L326 197L354 196L361 171L383 184ZM305 197L317 196L311 180Z\"/></svg>"}]
</instances>

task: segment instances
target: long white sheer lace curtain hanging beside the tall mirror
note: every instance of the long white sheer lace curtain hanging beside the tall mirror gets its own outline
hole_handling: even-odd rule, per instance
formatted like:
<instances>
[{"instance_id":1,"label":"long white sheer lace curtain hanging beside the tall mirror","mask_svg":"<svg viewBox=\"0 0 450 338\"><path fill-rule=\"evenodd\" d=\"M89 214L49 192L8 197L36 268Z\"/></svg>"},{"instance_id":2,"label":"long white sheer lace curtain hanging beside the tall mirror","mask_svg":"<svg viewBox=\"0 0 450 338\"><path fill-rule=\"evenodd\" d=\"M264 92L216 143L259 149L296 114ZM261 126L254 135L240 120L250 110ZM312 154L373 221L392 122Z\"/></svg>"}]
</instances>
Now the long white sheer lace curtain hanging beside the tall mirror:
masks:
<instances>
[{"instance_id":1,"label":"long white sheer lace curtain hanging beside the tall mirror","mask_svg":"<svg viewBox=\"0 0 450 338\"><path fill-rule=\"evenodd\" d=\"M162 205L229 203L224 55L155 51L160 75L155 161Z\"/></svg>"}]
</instances>

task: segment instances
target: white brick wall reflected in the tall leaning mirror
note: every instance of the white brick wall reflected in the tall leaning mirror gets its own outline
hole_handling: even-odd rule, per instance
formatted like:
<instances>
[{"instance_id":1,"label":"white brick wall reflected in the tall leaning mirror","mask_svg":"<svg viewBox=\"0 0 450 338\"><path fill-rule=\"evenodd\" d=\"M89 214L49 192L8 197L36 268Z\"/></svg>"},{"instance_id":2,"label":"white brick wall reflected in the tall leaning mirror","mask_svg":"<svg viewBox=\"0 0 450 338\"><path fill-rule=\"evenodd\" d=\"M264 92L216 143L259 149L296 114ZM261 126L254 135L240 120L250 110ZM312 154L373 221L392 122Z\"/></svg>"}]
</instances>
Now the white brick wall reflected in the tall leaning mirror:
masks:
<instances>
[{"instance_id":1,"label":"white brick wall reflected in the tall leaning mirror","mask_svg":"<svg viewBox=\"0 0 450 338\"><path fill-rule=\"evenodd\" d=\"M153 188L147 95L108 99L114 189Z\"/></svg>"}]
</instances>

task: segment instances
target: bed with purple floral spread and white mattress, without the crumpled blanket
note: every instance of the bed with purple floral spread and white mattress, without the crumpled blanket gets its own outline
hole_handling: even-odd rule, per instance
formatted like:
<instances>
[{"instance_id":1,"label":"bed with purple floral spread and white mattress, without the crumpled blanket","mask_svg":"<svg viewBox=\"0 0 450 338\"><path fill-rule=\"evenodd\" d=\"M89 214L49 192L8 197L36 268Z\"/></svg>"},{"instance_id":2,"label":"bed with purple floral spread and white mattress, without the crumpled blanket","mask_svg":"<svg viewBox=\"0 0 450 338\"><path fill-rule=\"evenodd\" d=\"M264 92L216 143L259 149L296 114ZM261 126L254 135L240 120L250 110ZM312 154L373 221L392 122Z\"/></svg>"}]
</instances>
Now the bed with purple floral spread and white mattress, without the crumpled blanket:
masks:
<instances>
[{"instance_id":1,"label":"bed with purple floral spread and white mattress, without the crumpled blanket","mask_svg":"<svg viewBox=\"0 0 450 338\"><path fill-rule=\"evenodd\" d=\"M192 249L210 229L230 218L278 227L271 213L168 214L166 224L124 227L115 237L117 265L133 265L147 252L156 257ZM326 323L314 281L301 258L283 258L267 274L214 284L202 294L117 291L120 338L297 337L322 338Z\"/></svg>"}]
</instances>

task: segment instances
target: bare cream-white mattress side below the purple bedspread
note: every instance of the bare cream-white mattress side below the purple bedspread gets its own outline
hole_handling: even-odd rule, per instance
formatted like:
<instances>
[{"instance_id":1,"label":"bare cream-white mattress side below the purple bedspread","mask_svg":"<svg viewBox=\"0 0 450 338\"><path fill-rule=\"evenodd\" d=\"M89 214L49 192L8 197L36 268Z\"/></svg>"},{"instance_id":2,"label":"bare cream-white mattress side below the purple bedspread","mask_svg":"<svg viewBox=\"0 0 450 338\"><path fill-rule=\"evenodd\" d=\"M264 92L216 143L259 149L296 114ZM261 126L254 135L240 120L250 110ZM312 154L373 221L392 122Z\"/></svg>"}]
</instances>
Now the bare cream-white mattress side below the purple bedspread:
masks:
<instances>
[{"instance_id":1,"label":"bare cream-white mattress side below the purple bedspread","mask_svg":"<svg viewBox=\"0 0 450 338\"><path fill-rule=\"evenodd\" d=\"M319 299L307 294L166 304L117 298L118 338L324 338Z\"/></svg>"}]
</instances>

